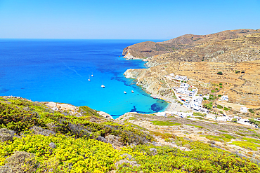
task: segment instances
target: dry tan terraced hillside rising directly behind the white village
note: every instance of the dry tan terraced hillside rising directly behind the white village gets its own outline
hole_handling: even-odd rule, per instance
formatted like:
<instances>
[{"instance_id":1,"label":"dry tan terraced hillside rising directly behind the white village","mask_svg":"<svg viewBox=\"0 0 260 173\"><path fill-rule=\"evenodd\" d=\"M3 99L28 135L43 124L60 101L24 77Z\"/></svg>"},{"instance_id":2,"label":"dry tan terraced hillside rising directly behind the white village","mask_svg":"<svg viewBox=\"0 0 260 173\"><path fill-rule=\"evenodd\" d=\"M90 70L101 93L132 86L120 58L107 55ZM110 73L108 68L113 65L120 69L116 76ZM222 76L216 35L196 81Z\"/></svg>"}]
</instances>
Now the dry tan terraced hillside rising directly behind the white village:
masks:
<instances>
[{"instance_id":1,"label":"dry tan terraced hillside rising directly behind the white village","mask_svg":"<svg viewBox=\"0 0 260 173\"><path fill-rule=\"evenodd\" d=\"M165 76L174 73L188 76L188 83L199 88L202 94L228 95L230 102L260 106L260 33L248 34L252 32L259 30L222 32L219 33L220 40L216 39L217 34L211 34L209 38L203 36L202 39L211 41L152 56L146 63L149 69L129 69L125 74L136 78L137 84L152 94L172 97L174 94L170 88L179 84ZM195 42L187 41L187 37L195 38L186 35L167 43L182 40L191 45ZM202 39L197 39L197 43ZM131 46L126 52L131 52ZM218 75L219 71L223 75ZM220 87L219 83L223 85Z\"/></svg>"}]
</instances>

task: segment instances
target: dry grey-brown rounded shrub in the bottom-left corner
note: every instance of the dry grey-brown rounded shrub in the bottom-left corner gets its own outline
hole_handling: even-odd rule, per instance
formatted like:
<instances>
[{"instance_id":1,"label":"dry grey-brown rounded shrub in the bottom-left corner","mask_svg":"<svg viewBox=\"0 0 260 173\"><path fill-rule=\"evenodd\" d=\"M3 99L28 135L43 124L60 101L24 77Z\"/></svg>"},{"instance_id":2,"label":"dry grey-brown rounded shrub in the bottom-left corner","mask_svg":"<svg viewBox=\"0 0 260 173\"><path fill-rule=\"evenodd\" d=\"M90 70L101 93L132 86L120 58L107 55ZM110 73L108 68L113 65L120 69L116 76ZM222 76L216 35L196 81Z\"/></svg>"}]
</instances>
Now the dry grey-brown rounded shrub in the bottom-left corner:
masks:
<instances>
[{"instance_id":1,"label":"dry grey-brown rounded shrub in the bottom-left corner","mask_svg":"<svg viewBox=\"0 0 260 173\"><path fill-rule=\"evenodd\" d=\"M4 167L10 168L12 172L16 173L35 172L38 166L34 154L25 151L15 151L13 155L6 158L6 165L4 165Z\"/></svg>"}]
</instances>

